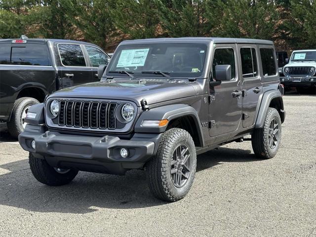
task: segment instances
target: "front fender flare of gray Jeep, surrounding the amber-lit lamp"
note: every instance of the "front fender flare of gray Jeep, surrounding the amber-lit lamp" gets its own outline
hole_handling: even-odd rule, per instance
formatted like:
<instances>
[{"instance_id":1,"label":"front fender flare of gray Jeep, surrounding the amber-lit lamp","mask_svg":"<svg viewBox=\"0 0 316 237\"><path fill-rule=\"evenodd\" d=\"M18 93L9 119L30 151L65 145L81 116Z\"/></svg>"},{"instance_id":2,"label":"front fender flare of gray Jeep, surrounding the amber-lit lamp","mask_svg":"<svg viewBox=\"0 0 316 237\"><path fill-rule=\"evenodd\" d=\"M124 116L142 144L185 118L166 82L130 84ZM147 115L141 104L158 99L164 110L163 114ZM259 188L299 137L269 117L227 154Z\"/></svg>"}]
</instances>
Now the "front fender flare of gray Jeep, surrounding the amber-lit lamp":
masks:
<instances>
[{"instance_id":1,"label":"front fender flare of gray Jeep, surrounding the amber-lit lamp","mask_svg":"<svg viewBox=\"0 0 316 237\"><path fill-rule=\"evenodd\" d=\"M167 125L163 127L142 127L141 124L143 120L168 119L170 122L175 118L187 116L193 119L194 124L192 124L192 126L197 130L199 143L204 146L203 133L197 111L193 107L185 104L166 105L144 111L137 119L134 130L137 133L162 133L166 130Z\"/></svg>"}]
</instances>

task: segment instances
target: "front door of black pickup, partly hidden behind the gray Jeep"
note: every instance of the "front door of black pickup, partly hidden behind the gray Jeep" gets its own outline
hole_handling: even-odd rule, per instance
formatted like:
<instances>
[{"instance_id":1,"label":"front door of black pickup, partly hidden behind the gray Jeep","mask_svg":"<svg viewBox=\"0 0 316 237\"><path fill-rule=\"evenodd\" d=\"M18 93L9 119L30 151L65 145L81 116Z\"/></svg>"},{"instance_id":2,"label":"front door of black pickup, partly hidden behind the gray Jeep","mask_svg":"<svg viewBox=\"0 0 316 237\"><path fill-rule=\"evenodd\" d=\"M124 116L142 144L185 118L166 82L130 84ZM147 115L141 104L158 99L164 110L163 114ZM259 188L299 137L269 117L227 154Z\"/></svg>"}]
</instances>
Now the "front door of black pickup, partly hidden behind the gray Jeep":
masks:
<instances>
[{"instance_id":1,"label":"front door of black pickup, partly hidden behind the gray Jeep","mask_svg":"<svg viewBox=\"0 0 316 237\"><path fill-rule=\"evenodd\" d=\"M89 66L92 67L92 80L98 81L98 67L101 64L107 64L107 59L110 59L110 57L97 47L84 45L84 48L88 56Z\"/></svg>"}]
</instances>

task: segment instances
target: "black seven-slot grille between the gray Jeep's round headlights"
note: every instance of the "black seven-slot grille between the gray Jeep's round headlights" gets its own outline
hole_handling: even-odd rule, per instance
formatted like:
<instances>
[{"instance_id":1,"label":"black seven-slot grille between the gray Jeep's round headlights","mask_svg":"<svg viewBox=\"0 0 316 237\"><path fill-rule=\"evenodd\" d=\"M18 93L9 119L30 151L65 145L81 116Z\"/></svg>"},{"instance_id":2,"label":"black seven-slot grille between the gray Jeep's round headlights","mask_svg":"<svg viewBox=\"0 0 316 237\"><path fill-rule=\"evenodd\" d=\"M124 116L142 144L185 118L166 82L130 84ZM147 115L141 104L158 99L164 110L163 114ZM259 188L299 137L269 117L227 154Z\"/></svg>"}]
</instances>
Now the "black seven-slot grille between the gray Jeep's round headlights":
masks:
<instances>
[{"instance_id":1,"label":"black seven-slot grille between the gray Jeep's round headlights","mask_svg":"<svg viewBox=\"0 0 316 237\"><path fill-rule=\"evenodd\" d=\"M116 129L117 103L61 100L59 105L60 126Z\"/></svg>"}]
</instances>

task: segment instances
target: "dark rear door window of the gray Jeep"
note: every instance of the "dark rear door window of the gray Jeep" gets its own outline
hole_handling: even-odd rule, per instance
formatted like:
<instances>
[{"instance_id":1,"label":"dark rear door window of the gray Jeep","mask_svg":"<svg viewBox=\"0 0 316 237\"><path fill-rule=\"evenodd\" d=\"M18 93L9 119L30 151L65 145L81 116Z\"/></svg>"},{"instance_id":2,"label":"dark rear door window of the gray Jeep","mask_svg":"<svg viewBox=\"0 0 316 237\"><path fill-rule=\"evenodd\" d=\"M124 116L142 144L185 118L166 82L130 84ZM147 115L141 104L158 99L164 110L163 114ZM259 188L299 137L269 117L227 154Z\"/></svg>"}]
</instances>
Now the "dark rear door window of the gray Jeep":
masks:
<instances>
[{"instance_id":1,"label":"dark rear door window of the gray Jeep","mask_svg":"<svg viewBox=\"0 0 316 237\"><path fill-rule=\"evenodd\" d=\"M254 78L258 75L256 50L254 48L240 48L241 69L243 78Z\"/></svg>"}]
</instances>

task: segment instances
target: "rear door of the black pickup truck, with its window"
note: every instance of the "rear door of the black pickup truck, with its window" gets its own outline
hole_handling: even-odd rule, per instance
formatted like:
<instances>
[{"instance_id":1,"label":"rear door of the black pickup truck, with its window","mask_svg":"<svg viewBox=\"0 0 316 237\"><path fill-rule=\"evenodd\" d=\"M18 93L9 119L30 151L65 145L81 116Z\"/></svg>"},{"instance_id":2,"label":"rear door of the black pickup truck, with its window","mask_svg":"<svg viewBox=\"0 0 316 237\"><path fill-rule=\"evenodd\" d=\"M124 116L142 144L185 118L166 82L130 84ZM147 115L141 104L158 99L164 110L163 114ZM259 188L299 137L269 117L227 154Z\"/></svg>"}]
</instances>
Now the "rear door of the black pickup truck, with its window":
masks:
<instances>
[{"instance_id":1,"label":"rear door of the black pickup truck, with its window","mask_svg":"<svg viewBox=\"0 0 316 237\"><path fill-rule=\"evenodd\" d=\"M81 44L58 43L58 56L60 59L59 77L62 87L92 82L92 68L84 57Z\"/></svg>"}]
</instances>

